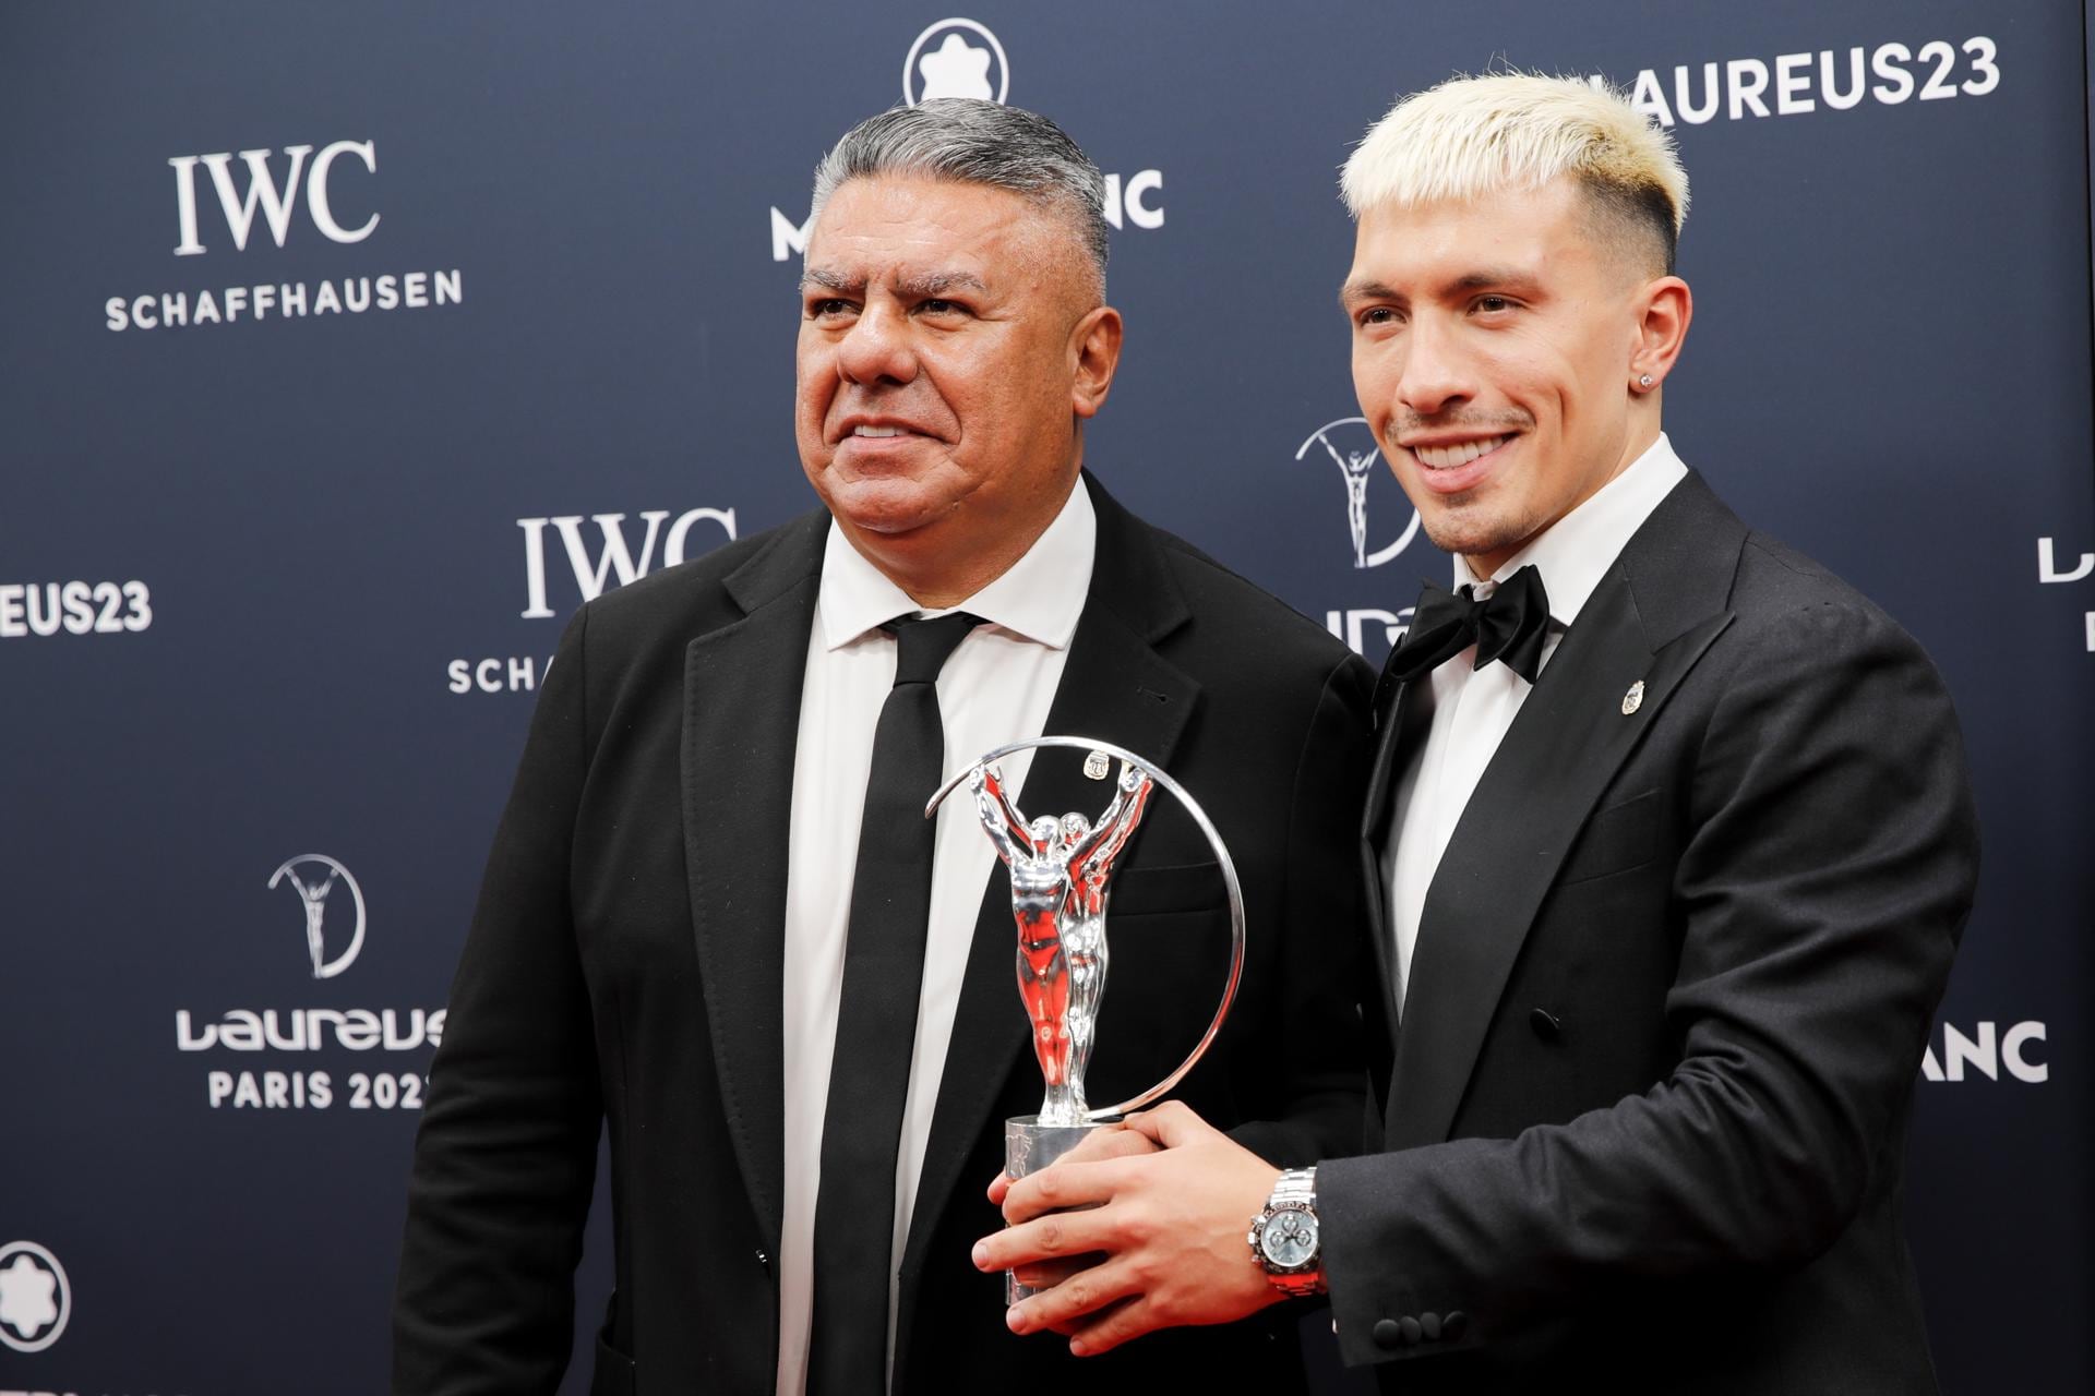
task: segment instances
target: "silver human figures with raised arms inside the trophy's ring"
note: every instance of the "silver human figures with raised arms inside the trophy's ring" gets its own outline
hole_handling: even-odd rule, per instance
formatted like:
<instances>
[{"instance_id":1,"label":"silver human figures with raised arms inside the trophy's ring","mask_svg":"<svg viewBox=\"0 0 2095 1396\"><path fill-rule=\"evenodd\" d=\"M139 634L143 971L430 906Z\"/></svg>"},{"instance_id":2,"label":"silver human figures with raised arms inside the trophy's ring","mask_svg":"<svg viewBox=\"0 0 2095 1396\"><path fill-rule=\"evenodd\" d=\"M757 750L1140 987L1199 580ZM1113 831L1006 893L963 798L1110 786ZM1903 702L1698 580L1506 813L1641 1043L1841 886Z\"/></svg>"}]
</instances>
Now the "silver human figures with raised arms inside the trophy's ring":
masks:
<instances>
[{"instance_id":1,"label":"silver human figures with raised arms inside the trophy's ring","mask_svg":"<svg viewBox=\"0 0 2095 1396\"><path fill-rule=\"evenodd\" d=\"M1106 883L1142 818L1150 781L1140 766L1123 764L1121 789L1096 827L1083 814L1027 820L997 772L985 766L968 772L968 789L1012 877L1018 996L1033 1021L1033 1055L1048 1082L1039 1120L1077 1126L1089 1113L1083 1067L1106 986Z\"/></svg>"}]
</instances>

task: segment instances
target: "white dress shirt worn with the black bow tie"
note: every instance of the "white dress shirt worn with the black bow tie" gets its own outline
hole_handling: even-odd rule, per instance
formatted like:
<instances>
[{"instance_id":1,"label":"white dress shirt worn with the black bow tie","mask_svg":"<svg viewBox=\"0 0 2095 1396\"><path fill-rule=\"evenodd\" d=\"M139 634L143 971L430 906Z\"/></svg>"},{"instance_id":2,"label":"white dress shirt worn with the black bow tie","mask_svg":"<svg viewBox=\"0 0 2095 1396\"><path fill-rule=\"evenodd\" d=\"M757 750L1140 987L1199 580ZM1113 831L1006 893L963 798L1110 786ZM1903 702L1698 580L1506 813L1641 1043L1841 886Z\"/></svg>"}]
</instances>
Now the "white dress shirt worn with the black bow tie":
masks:
<instances>
[{"instance_id":1,"label":"white dress shirt worn with the black bow tie","mask_svg":"<svg viewBox=\"0 0 2095 1396\"><path fill-rule=\"evenodd\" d=\"M1479 601L1490 596L1500 582L1534 563L1550 596L1550 628L1542 640L1542 666L1548 668L1563 632L1615 565L1624 544L1686 473L1689 467L1680 465L1666 433L1659 433L1659 440L1622 475L1508 557L1487 582L1477 582L1475 596ZM1454 576L1456 586L1475 582L1460 557L1454 559ZM1483 768L1492 764L1498 743L1534 686L1504 663L1477 670L1475 661L1477 647L1471 645L1433 670L1416 697L1431 705L1433 720L1397 783L1389 820L1395 837L1383 848L1389 927L1395 938L1391 973L1399 1013L1410 988L1412 948L1418 944L1418 917L1433 873L1439 871L1441 854L1448 852L1448 839L1454 837ZM1542 670L1536 670L1538 680L1540 676Z\"/></svg>"}]
</instances>

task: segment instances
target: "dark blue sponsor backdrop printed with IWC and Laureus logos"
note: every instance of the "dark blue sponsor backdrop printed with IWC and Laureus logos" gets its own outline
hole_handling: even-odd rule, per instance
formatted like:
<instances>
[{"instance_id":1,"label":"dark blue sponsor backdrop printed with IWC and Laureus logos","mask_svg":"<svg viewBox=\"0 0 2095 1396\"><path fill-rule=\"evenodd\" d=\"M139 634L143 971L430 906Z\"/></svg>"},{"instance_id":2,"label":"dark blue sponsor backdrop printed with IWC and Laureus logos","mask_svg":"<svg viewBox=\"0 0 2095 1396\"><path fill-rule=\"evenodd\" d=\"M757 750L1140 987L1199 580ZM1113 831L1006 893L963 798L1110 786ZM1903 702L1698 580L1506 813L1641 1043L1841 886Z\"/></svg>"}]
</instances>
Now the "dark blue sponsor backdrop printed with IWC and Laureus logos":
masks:
<instances>
[{"instance_id":1,"label":"dark blue sponsor backdrop printed with IWC and Laureus logos","mask_svg":"<svg viewBox=\"0 0 2095 1396\"><path fill-rule=\"evenodd\" d=\"M1091 467L1381 661L1448 563L1351 396L1337 167L1498 63L1674 132L1674 446L1948 676L1986 873L1913 1247L1948 1390L2095 1388L2082 8L960 2L0 13L0 1390L385 1388L423 1074L564 617L813 504L838 134L1056 117L1127 316Z\"/></svg>"}]
</instances>

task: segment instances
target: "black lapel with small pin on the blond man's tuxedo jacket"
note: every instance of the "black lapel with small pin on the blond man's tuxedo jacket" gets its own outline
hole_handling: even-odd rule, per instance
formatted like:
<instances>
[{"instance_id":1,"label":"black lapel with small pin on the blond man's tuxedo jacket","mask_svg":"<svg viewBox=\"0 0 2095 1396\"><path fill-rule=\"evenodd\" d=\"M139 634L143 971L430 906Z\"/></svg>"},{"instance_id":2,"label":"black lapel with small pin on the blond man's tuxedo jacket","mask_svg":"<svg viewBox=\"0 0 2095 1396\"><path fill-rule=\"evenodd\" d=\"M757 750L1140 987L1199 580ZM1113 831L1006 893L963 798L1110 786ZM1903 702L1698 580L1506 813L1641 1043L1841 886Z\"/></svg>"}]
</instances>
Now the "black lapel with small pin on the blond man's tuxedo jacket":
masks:
<instances>
[{"instance_id":1,"label":"black lapel with small pin on the blond man's tuxedo jacket","mask_svg":"<svg viewBox=\"0 0 2095 1396\"><path fill-rule=\"evenodd\" d=\"M1385 1147L1448 1139L1513 961L1601 791L1724 611L1745 530L1697 475L1645 521L1559 643L1441 856L1418 923ZM1632 682L1636 712L1624 714Z\"/></svg>"}]
</instances>

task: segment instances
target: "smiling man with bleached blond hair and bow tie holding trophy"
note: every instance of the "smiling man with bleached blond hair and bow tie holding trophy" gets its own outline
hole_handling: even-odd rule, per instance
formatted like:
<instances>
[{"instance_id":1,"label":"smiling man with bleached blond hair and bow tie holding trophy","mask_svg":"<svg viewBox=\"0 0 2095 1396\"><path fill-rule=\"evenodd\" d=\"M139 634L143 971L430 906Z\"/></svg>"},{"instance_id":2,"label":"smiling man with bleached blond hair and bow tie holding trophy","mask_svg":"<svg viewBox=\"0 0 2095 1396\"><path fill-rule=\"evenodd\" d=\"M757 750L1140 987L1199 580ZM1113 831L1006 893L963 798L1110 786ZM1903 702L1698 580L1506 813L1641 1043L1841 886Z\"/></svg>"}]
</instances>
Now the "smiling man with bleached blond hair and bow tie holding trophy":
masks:
<instances>
[{"instance_id":1,"label":"smiling man with bleached blond hair and bow tie holding trophy","mask_svg":"<svg viewBox=\"0 0 2095 1396\"><path fill-rule=\"evenodd\" d=\"M1443 84L1345 199L1362 412L1460 584L1355 839L1383 1153L1276 1176L1167 1107L1165 1153L1010 1187L978 1262L1108 1252L1010 1316L1079 1352L1328 1289L1387 1390L1934 1390L1898 1195L1978 871L1942 682L1661 433L1686 176L1626 103Z\"/></svg>"}]
</instances>

